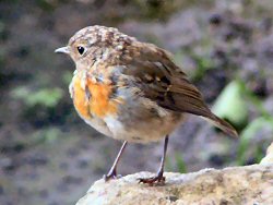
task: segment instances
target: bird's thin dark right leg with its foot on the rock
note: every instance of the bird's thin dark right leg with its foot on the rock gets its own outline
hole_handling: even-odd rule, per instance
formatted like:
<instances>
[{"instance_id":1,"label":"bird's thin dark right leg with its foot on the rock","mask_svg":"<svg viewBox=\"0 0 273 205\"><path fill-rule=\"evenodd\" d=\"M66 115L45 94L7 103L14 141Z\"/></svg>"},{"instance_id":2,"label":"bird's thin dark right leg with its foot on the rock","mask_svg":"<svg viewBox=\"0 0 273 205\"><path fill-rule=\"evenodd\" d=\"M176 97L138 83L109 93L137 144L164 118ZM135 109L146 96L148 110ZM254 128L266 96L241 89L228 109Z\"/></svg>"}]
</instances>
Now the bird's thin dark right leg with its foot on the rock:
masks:
<instances>
[{"instance_id":1,"label":"bird's thin dark right leg with its foot on the rock","mask_svg":"<svg viewBox=\"0 0 273 205\"><path fill-rule=\"evenodd\" d=\"M167 153L167 147L168 147L168 135L165 137L164 142L164 150L163 150L163 156L162 156L162 161L161 161L161 167L156 173L155 177L152 178L141 178L140 183L147 183L147 184L154 184L155 182L158 183L164 183L165 182L165 177L163 177L164 172L164 164L165 164L165 158L166 158L166 153Z\"/></svg>"}]
</instances>

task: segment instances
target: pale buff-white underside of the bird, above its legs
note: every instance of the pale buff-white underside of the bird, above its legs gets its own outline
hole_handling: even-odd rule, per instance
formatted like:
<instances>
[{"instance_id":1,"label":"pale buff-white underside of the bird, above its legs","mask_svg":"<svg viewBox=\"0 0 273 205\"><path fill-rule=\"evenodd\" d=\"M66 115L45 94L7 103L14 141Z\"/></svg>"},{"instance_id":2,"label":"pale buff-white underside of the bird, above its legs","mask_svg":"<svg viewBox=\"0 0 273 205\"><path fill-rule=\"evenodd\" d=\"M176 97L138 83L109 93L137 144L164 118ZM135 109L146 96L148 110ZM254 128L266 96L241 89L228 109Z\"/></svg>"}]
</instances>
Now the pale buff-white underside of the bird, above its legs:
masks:
<instances>
[{"instance_id":1,"label":"pale buff-white underside of the bird, above its legs","mask_svg":"<svg viewBox=\"0 0 273 205\"><path fill-rule=\"evenodd\" d=\"M132 143L157 142L170 134L182 120L182 114L169 112L161 118L153 117L154 113L149 113L150 110L145 110L144 116L147 118L142 119L144 116L140 117L140 113L143 113L143 110L141 111L136 107L133 112L127 108L122 108L122 119L117 116L108 116L103 119L96 117L83 119L106 136Z\"/></svg>"}]
</instances>

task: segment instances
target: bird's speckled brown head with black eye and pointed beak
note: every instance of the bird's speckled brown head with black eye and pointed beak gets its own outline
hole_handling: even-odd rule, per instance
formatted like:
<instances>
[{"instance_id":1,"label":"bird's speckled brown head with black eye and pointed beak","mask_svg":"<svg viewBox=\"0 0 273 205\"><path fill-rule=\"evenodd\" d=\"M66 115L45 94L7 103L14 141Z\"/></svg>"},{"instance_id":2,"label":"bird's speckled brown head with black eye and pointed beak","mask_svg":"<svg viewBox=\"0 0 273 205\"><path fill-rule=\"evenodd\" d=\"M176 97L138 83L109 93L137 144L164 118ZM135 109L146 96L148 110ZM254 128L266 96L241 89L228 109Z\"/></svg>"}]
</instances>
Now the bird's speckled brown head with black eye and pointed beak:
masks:
<instances>
[{"instance_id":1,"label":"bird's speckled brown head with black eye and pointed beak","mask_svg":"<svg viewBox=\"0 0 273 205\"><path fill-rule=\"evenodd\" d=\"M122 48L122 44L132 39L114 27L88 26L76 32L66 47L55 52L69 55L76 69L86 69L96 60L108 58L111 50Z\"/></svg>"}]
</instances>

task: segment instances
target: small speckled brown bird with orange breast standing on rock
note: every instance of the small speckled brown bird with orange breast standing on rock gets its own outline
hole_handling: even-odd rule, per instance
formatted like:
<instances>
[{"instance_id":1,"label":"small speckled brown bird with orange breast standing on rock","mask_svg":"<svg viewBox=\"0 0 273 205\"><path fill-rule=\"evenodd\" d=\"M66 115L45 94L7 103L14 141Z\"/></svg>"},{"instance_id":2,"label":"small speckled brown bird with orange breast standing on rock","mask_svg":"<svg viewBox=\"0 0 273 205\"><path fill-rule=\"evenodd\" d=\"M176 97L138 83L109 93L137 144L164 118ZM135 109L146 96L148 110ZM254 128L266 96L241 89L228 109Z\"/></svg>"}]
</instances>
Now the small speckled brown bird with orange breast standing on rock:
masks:
<instances>
[{"instance_id":1,"label":"small speckled brown bird with orange breast standing on rock","mask_svg":"<svg viewBox=\"0 0 273 205\"><path fill-rule=\"evenodd\" d=\"M186 113L203 117L237 136L230 124L212 113L171 55L153 44L96 25L75 33L56 52L69 55L75 63L69 91L80 117L98 132L123 141L106 181L117 177L128 142L146 144L165 137L157 174L140 179L150 184L164 182L168 136Z\"/></svg>"}]
</instances>

